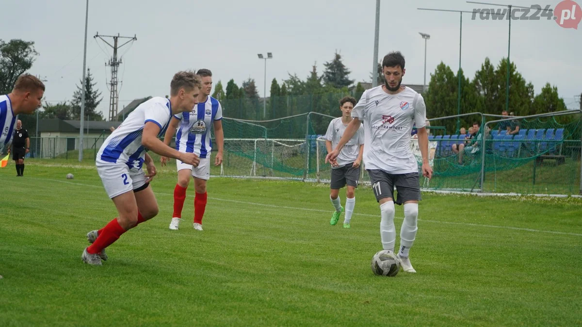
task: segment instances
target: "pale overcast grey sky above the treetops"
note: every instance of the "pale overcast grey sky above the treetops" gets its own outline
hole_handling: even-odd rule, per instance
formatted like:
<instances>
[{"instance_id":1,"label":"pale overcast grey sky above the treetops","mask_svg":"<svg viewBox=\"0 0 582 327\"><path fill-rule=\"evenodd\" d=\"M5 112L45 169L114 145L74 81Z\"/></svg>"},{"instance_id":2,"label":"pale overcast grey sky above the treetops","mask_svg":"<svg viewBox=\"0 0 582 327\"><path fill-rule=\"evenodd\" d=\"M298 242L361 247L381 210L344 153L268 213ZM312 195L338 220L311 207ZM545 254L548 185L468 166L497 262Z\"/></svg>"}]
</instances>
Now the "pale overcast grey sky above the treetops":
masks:
<instances>
[{"instance_id":1,"label":"pale overcast grey sky above the treetops","mask_svg":"<svg viewBox=\"0 0 582 327\"><path fill-rule=\"evenodd\" d=\"M487 1L484 1L487 2ZM530 6L531 1L493 1ZM538 3L555 8L559 1ZM498 8L465 1L381 1L379 58L399 50L406 58L404 83L423 84L424 40L427 47L427 83L439 62L456 72L459 65L459 14L417 8L473 10ZM531 13L530 13L531 15ZM582 13L580 13L582 15ZM26 20L25 20L26 19ZM40 53L30 73L47 79L45 98L53 103L70 100L83 71L85 1L32 2L3 0L0 39L34 41ZM178 70L208 68L215 83L252 77L262 97L264 61L258 53L272 52L267 62L267 95L271 80L279 83L288 73L304 79L317 62L331 61L337 50L356 81L370 81L374 51L374 0L352 1L191 1L90 0L87 67L103 93L99 108L108 116L111 72L104 63L111 48L93 38L95 33L133 36L132 46L120 49L119 110L134 98L169 94L169 82ZM471 78L485 57L498 65L508 53L508 21L471 20L463 14L462 67ZM568 108L579 108L582 92L582 24L564 29L553 20L514 20L510 59L535 93L546 82L558 87ZM213 90L214 91L214 90Z\"/></svg>"}]
</instances>

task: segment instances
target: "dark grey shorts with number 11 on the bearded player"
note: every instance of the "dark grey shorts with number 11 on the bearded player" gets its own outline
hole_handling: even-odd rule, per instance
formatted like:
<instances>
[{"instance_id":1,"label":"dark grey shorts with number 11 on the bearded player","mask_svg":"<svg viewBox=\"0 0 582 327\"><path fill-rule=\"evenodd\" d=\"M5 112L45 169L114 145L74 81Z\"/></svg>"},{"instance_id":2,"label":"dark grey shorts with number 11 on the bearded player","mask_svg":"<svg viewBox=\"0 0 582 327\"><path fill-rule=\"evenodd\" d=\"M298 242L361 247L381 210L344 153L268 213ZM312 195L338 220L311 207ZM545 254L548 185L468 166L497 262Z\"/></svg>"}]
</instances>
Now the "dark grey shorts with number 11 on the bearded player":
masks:
<instances>
[{"instance_id":1,"label":"dark grey shorts with number 11 on the bearded player","mask_svg":"<svg viewBox=\"0 0 582 327\"><path fill-rule=\"evenodd\" d=\"M396 200L395 204L401 205L406 201L422 200L418 173L389 174L384 170L368 169L368 175L378 202L381 198L392 198ZM396 199L394 199L395 186L398 191Z\"/></svg>"}]
</instances>

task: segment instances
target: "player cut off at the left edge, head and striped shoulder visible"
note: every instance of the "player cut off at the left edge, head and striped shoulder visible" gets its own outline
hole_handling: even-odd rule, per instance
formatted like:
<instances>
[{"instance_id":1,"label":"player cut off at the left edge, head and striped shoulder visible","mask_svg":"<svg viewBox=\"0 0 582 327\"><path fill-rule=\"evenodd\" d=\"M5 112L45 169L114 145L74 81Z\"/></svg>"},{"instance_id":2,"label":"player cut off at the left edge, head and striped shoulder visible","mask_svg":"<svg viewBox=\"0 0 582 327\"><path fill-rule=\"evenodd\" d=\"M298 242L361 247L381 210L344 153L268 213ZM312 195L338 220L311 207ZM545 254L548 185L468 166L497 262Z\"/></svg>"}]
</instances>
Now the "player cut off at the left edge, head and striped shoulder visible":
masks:
<instances>
[{"instance_id":1,"label":"player cut off at the left edge, head and striped shoulder visible","mask_svg":"<svg viewBox=\"0 0 582 327\"><path fill-rule=\"evenodd\" d=\"M44 90L44 84L37 77L22 74L16 79L11 93L0 95L0 154L8 152L16 116L20 113L26 115L34 113L40 106Z\"/></svg>"}]
</instances>

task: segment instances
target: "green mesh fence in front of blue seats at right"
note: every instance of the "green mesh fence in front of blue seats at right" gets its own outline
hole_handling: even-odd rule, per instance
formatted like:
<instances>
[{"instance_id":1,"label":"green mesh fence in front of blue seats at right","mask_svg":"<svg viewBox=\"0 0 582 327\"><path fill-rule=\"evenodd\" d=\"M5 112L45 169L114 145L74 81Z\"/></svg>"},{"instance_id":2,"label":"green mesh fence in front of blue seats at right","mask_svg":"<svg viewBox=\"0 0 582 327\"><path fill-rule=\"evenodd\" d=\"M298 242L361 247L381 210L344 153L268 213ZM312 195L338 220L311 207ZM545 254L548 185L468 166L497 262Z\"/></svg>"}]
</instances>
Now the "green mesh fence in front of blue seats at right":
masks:
<instances>
[{"instance_id":1,"label":"green mesh fence in front of blue seats at right","mask_svg":"<svg viewBox=\"0 0 582 327\"><path fill-rule=\"evenodd\" d=\"M514 119L510 126L517 125L520 130L508 135L503 129L505 123L486 123L477 139L464 148L462 156L453 151L453 144L458 149L462 142L458 134L453 134L456 140L446 135L437 140L435 136L434 177L428 187L492 193L579 194L582 137L579 112Z\"/></svg>"}]
</instances>

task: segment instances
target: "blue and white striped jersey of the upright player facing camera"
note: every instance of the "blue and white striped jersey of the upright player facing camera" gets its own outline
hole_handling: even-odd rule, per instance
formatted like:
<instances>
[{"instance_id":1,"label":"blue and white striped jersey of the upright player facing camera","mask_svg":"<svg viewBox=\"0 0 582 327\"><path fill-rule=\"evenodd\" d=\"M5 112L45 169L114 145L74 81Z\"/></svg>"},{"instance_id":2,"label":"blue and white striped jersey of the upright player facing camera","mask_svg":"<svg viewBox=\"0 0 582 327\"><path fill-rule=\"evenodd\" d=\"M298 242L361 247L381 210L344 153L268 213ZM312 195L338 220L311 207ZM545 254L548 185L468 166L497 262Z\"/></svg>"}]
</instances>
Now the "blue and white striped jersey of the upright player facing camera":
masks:
<instances>
[{"instance_id":1,"label":"blue and white striped jersey of the upright player facing camera","mask_svg":"<svg viewBox=\"0 0 582 327\"><path fill-rule=\"evenodd\" d=\"M222 119L220 102L208 97L206 102L199 103L192 112L183 112L174 117L180 119L176 133L176 150L193 152L200 158L210 158L212 149L210 128L215 120Z\"/></svg>"}]
</instances>

